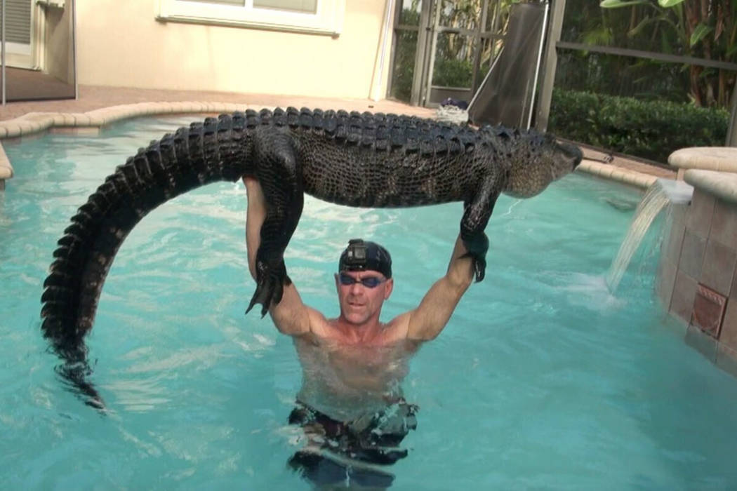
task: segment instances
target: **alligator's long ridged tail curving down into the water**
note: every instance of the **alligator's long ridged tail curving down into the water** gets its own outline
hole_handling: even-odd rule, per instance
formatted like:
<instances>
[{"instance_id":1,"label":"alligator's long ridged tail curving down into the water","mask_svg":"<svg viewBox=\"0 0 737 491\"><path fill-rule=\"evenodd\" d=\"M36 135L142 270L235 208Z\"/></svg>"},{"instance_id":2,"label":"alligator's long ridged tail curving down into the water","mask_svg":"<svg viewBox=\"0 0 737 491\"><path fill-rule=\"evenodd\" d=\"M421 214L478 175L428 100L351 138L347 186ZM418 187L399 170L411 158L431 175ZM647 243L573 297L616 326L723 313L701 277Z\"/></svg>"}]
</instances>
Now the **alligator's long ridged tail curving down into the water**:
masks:
<instances>
[{"instance_id":1,"label":"alligator's long ridged tail curving down into the water","mask_svg":"<svg viewBox=\"0 0 737 491\"><path fill-rule=\"evenodd\" d=\"M84 336L92 328L102 283L130 230L150 211L186 191L253 173L248 128L268 120L254 111L208 118L140 149L105 179L64 230L43 282L43 336L63 358L57 372L87 403L102 401L90 373Z\"/></svg>"}]
</instances>

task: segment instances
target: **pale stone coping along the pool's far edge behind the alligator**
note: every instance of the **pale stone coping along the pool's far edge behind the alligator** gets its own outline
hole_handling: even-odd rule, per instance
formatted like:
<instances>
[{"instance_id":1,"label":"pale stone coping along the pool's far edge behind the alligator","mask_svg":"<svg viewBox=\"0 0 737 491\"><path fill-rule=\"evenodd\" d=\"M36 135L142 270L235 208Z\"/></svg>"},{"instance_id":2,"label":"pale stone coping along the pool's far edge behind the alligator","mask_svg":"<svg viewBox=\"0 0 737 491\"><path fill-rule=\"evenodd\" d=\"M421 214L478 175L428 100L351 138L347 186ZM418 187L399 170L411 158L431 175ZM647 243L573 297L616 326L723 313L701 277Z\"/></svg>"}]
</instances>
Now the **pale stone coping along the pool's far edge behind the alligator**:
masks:
<instances>
[{"instance_id":1,"label":"pale stone coping along the pool's far edge behind the alligator","mask_svg":"<svg viewBox=\"0 0 737 491\"><path fill-rule=\"evenodd\" d=\"M237 110L262 109L263 107L273 106L234 102L138 102L102 107L85 113L27 113L14 119L0 121L0 141L4 138L18 138L55 129L97 130L106 124L139 116L232 113ZM657 177L650 174L585 158L581 161L578 169L587 174L638 188L648 188L657 179ZM3 188L4 180L12 177L13 165L0 143L0 190Z\"/></svg>"}]
</instances>

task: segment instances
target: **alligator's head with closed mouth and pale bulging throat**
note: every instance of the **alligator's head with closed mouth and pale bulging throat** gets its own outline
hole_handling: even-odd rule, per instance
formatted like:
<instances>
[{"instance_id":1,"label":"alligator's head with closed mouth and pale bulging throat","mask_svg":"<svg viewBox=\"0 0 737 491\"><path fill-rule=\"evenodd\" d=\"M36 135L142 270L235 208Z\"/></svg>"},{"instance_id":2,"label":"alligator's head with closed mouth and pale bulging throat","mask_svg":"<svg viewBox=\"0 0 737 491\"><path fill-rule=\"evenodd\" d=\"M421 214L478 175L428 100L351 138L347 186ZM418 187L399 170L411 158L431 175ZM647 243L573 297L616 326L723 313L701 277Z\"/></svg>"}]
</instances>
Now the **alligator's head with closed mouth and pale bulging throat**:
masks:
<instances>
[{"instance_id":1,"label":"alligator's head with closed mouth and pale bulging throat","mask_svg":"<svg viewBox=\"0 0 737 491\"><path fill-rule=\"evenodd\" d=\"M503 192L518 198L541 193L554 180L573 172L583 158L578 146L534 131L514 135L505 146L510 166Z\"/></svg>"}]
</instances>

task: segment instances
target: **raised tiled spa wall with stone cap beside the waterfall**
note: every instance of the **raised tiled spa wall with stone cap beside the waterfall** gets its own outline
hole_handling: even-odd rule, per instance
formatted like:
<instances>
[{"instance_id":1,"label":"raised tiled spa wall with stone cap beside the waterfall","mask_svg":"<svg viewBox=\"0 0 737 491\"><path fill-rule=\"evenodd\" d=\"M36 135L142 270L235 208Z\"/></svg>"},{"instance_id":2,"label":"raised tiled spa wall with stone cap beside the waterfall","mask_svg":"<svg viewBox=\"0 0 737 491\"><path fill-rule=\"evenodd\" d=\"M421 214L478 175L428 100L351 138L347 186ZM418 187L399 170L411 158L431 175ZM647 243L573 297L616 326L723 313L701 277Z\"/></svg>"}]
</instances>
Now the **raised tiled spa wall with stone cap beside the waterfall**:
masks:
<instances>
[{"instance_id":1,"label":"raised tiled spa wall with stone cap beside the waterfall","mask_svg":"<svg viewBox=\"0 0 737 491\"><path fill-rule=\"evenodd\" d=\"M668 163L694 194L669 217L656 294L686 344L737 377L737 148L680 149Z\"/></svg>"}]
</instances>

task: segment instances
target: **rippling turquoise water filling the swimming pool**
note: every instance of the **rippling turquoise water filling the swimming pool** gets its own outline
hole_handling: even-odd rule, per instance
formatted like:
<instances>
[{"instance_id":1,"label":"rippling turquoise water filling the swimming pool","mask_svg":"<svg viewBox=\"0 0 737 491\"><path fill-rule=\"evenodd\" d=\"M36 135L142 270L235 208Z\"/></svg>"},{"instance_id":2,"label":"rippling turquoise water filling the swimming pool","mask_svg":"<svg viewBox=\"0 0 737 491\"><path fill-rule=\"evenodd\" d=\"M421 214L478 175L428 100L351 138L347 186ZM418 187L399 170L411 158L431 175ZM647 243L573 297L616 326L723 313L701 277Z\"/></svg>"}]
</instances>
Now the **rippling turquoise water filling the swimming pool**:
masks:
<instances>
[{"instance_id":1,"label":"rippling turquoise water filling the swimming pool","mask_svg":"<svg viewBox=\"0 0 737 491\"><path fill-rule=\"evenodd\" d=\"M0 487L308 489L287 470L301 383L291 339L243 315L245 191L223 183L147 216L113 264L88 338L102 417L55 377L39 331L41 283L69 217L139 146L191 121L147 119L100 136L4 142L0 193ZM411 362L420 407L392 489L737 487L737 382L682 341L652 294L654 243L616 295L604 275L636 203L581 175L502 197L486 280ZM304 300L338 314L347 239L380 241L396 286L385 318L444 272L461 205L360 210L307 199L287 251Z\"/></svg>"}]
</instances>

